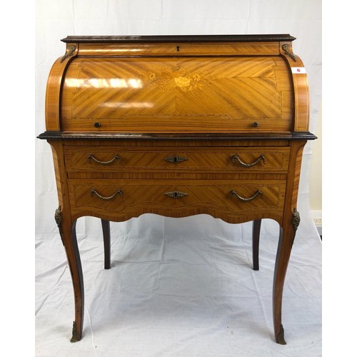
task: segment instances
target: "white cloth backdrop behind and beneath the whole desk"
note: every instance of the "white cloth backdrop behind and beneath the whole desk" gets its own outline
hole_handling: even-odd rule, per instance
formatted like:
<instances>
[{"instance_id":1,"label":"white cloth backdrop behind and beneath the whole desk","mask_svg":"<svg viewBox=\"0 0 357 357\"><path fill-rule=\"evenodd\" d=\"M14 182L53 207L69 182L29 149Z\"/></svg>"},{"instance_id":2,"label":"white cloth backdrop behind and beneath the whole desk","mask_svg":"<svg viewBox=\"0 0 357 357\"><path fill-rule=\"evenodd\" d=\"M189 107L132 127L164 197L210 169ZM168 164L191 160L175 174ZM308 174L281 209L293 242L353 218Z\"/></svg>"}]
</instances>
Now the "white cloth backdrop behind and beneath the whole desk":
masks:
<instances>
[{"instance_id":1,"label":"white cloth backdrop behind and beneath the whole desk","mask_svg":"<svg viewBox=\"0 0 357 357\"><path fill-rule=\"evenodd\" d=\"M321 104L320 0L37 0L36 135L45 130L46 79L68 35L291 34L306 66L311 132ZM303 153L298 211L283 295L288 345L273 341L272 285L278 224L263 220L261 270L251 269L251 223L209 216L144 215L112 223L104 270L99 219L77 223L84 336L70 343L74 297L54 222L51 149L36 139L36 356L320 356L321 241L310 217Z\"/></svg>"}]
</instances>

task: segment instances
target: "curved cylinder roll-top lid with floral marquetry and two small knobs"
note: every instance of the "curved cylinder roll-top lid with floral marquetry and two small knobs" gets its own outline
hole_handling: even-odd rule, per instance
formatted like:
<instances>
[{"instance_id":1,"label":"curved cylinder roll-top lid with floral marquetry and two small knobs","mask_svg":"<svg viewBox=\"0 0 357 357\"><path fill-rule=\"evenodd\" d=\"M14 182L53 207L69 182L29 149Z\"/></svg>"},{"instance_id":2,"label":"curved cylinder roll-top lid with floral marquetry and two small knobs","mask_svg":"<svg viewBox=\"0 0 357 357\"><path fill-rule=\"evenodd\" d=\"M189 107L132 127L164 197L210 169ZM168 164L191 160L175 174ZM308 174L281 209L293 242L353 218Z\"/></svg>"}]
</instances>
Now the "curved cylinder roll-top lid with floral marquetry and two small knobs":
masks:
<instances>
[{"instance_id":1,"label":"curved cylinder roll-top lid with floral marquetry and two small knobs","mask_svg":"<svg viewBox=\"0 0 357 357\"><path fill-rule=\"evenodd\" d=\"M293 84L281 56L77 57L62 81L64 131L293 129Z\"/></svg>"}]
</instances>

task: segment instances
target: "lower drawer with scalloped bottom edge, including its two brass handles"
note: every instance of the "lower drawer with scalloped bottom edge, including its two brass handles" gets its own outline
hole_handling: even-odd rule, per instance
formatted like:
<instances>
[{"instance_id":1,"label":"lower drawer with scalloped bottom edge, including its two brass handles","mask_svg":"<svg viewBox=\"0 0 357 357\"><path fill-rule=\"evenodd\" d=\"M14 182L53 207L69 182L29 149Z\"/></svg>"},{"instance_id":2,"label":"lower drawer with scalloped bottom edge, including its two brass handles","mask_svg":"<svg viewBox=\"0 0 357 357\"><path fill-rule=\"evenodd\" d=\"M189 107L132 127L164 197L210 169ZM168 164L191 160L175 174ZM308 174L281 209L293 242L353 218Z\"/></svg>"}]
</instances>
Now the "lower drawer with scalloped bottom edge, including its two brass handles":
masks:
<instances>
[{"instance_id":1,"label":"lower drawer with scalloped bottom edge, including its two brass handles","mask_svg":"<svg viewBox=\"0 0 357 357\"><path fill-rule=\"evenodd\" d=\"M118 213L190 216L208 213L280 213L285 181L69 180L76 216Z\"/></svg>"}]
</instances>

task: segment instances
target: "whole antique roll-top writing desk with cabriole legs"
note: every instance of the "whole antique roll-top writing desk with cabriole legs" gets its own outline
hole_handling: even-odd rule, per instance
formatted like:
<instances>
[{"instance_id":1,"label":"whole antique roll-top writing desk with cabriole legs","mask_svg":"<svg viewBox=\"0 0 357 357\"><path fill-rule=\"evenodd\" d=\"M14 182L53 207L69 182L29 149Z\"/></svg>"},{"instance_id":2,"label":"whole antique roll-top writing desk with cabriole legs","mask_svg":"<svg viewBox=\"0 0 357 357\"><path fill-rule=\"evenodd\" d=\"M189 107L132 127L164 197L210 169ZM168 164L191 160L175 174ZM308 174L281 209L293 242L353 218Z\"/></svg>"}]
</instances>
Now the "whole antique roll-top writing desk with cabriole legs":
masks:
<instances>
[{"instance_id":1,"label":"whole antique roll-top writing desk with cabriole legs","mask_svg":"<svg viewBox=\"0 0 357 357\"><path fill-rule=\"evenodd\" d=\"M55 212L74 286L71 341L81 339L84 284L76 219L206 213L281 226L273 282L276 342L283 281L300 221L296 207L308 132L308 84L290 35L69 36L46 90Z\"/></svg>"}]
</instances>

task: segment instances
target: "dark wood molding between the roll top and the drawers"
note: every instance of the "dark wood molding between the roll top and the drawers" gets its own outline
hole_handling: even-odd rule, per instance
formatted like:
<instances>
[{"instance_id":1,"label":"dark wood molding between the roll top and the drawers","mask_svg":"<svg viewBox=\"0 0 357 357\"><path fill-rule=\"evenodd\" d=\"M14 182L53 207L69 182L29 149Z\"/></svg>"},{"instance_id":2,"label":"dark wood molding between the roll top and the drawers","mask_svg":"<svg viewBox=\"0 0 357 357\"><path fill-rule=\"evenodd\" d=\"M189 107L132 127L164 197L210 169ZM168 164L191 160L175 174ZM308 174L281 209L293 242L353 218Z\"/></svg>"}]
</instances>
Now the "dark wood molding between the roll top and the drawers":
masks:
<instances>
[{"instance_id":1,"label":"dark wood molding between the roll top and the drawers","mask_svg":"<svg viewBox=\"0 0 357 357\"><path fill-rule=\"evenodd\" d=\"M66 133L63 131L45 131L37 139L143 139L143 140L314 140L317 137L309 131L293 133Z\"/></svg>"}]
</instances>

